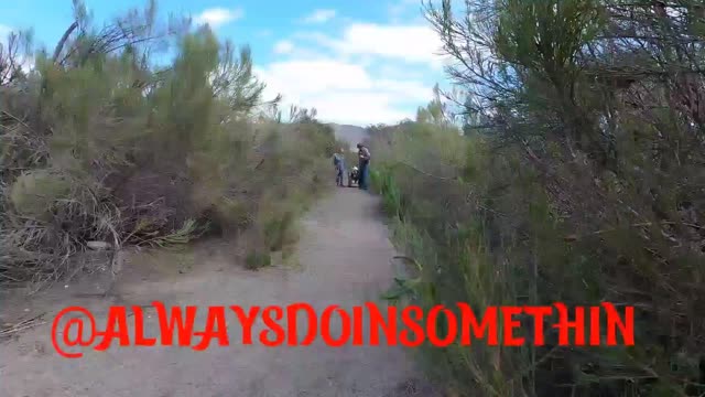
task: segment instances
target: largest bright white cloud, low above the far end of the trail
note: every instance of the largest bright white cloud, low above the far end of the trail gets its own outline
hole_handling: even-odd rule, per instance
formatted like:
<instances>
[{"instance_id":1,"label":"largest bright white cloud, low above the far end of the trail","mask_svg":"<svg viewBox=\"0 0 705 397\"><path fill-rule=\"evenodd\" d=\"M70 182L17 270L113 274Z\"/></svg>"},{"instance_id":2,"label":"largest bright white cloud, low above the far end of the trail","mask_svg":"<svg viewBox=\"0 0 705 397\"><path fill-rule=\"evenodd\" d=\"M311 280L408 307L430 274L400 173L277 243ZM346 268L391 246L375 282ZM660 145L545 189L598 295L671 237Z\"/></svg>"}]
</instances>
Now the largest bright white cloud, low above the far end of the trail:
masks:
<instances>
[{"instance_id":1,"label":"largest bright white cloud, low above the far end of the trail","mask_svg":"<svg viewBox=\"0 0 705 397\"><path fill-rule=\"evenodd\" d=\"M315 107L323 121L394 124L432 98L443 79L441 50L423 23L347 22L337 35L308 31L276 42L281 58L256 73L267 97L283 95L283 108Z\"/></svg>"}]
</instances>

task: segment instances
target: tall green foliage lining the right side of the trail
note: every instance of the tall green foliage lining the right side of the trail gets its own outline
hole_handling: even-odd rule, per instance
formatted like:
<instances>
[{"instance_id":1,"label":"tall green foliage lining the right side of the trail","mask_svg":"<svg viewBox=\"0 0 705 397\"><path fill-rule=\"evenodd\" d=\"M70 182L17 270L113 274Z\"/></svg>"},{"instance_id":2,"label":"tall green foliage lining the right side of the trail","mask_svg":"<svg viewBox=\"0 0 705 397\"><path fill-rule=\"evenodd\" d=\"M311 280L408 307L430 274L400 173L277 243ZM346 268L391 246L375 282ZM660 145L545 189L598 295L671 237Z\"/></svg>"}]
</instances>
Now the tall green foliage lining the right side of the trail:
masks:
<instances>
[{"instance_id":1,"label":"tall green foliage lining the right side of the trail","mask_svg":"<svg viewBox=\"0 0 705 397\"><path fill-rule=\"evenodd\" d=\"M430 371L467 396L701 395L702 4L451 4L426 15L471 93L466 137L426 112L372 142L395 240L423 268L410 299L631 304L637 345L427 346Z\"/></svg>"}]
</instances>

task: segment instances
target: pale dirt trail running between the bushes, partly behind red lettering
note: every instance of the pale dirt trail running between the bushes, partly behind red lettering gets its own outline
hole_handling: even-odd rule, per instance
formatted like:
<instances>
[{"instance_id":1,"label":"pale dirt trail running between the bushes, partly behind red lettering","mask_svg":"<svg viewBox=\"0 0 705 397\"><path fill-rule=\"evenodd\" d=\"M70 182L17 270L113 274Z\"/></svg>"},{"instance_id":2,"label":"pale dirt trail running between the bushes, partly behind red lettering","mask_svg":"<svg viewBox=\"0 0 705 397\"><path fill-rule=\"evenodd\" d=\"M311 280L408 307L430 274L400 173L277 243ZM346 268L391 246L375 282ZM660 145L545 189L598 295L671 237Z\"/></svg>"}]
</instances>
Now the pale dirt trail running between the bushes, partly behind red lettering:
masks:
<instances>
[{"instance_id":1,"label":"pale dirt trail running between the bushes, partly behind red lettering","mask_svg":"<svg viewBox=\"0 0 705 397\"><path fill-rule=\"evenodd\" d=\"M167 307L310 302L317 308L378 300L391 280L394 249L377 212L376 198L357 189L338 190L323 200L303 221L299 270L243 270L209 245L194 251L194 265L186 270L178 264L148 260L126 265L109 298L76 293L89 291L90 282L59 286L58 292L22 302L25 308L2 298L3 312L17 309L30 315L41 308L48 314L46 324L0 344L0 396L426 396L414 380L412 357L401 347L335 348L322 342L304 347L221 347L214 340L207 351L194 352L119 347L113 342L106 352L87 351L82 358L66 360L51 344L52 313L73 304L102 313L96 320L105 324L110 304L148 305L154 300ZM160 261L164 260L155 260ZM147 310L145 333L155 336L155 315ZM199 311L196 328L204 324ZM239 341L232 312L228 325L230 341ZM306 329L303 322L300 326L303 339ZM259 329L256 341L258 335Z\"/></svg>"}]
</instances>

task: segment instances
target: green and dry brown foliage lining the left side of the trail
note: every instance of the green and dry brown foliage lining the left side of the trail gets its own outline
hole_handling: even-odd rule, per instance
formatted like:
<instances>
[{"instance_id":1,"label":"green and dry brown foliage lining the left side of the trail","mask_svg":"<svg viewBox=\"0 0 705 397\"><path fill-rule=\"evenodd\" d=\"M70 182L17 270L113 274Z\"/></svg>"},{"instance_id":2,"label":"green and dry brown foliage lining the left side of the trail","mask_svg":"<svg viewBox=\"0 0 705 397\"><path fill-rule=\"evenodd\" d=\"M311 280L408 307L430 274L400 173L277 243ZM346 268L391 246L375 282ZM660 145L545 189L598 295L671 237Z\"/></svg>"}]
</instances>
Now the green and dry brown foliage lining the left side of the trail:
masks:
<instances>
[{"instance_id":1,"label":"green and dry brown foliage lining the left side of the trail","mask_svg":"<svg viewBox=\"0 0 705 397\"><path fill-rule=\"evenodd\" d=\"M295 242L337 146L315 110L262 117L278 98L262 98L249 47L160 23L153 1L102 28L74 6L66 40L0 79L0 279L54 280L91 240L169 246L253 227L269 249ZM0 74L18 54L0 51Z\"/></svg>"}]
</instances>

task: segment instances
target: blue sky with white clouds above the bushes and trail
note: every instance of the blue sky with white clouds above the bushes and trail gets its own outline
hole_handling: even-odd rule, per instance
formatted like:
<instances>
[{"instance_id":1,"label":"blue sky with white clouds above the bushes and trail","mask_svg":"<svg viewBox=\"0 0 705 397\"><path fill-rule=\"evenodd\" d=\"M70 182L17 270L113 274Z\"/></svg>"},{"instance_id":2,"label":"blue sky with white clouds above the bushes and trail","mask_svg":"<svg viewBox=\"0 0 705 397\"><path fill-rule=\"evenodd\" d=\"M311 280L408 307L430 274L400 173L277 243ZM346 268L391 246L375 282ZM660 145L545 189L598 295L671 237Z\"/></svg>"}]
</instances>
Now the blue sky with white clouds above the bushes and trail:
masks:
<instances>
[{"instance_id":1,"label":"blue sky with white clouds above the bushes and trail","mask_svg":"<svg viewBox=\"0 0 705 397\"><path fill-rule=\"evenodd\" d=\"M142 0L86 0L97 20ZM368 125L413 117L445 81L440 42L420 0L161 0L220 37L249 44L268 94L316 107L324 121ZM72 22L70 0L0 2L0 33L33 28L53 47Z\"/></svg>"}]
</instances>

